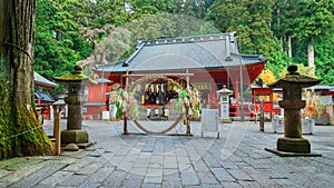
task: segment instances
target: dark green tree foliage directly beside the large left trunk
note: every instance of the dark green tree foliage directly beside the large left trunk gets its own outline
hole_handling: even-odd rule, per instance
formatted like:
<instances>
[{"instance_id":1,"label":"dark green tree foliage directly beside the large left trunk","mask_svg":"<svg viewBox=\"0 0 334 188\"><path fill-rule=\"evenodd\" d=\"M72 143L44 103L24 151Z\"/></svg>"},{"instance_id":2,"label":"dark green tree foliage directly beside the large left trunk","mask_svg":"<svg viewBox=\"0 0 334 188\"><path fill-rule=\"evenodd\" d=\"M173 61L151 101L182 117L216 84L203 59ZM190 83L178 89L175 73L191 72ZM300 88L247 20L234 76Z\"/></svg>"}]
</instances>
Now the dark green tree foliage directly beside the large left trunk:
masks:
<instances>
[{"instance_id":1,"label":"dark green tree foliage directly beside the large left trunk","mask_svg":"<svg viewBox=\"0 0 334 188\"><path fill-rule=\"evenodd\" d=\"M35 70L52 79L71 71L73 65L91 52L73 17L78 0L39 0L36 17Z\"/></svg>"}]
</instances>

